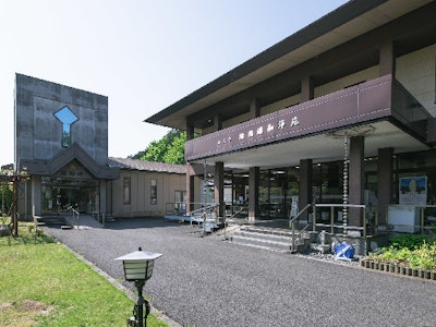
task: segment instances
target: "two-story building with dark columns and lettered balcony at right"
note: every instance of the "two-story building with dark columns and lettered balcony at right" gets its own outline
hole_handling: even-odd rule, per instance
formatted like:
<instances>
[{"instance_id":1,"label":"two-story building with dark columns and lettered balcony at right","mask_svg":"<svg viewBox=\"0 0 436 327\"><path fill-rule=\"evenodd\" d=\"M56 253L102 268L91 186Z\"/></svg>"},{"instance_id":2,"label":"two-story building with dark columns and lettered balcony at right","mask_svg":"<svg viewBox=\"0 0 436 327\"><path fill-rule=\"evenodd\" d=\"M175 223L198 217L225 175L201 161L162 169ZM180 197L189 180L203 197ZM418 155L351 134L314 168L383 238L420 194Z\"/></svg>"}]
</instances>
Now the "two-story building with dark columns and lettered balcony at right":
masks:
<instances>
[{"instance_id":1,"label":"two-story building with dark columns and lettered balcony at right","mask_svg":"<svg viewBox=\"0 0 436 327\"><path fill-rule=\"evenodd\" d=\"M435 16L431 0L350 1L146 122L187 131L189 165L215 167L221 216L226 204L246 203L252 222L342 204L335 223L371 213L383 227L392 205L429 210ZM198 202L192 174L186 190Z\"/></svg>"}]
</instances>

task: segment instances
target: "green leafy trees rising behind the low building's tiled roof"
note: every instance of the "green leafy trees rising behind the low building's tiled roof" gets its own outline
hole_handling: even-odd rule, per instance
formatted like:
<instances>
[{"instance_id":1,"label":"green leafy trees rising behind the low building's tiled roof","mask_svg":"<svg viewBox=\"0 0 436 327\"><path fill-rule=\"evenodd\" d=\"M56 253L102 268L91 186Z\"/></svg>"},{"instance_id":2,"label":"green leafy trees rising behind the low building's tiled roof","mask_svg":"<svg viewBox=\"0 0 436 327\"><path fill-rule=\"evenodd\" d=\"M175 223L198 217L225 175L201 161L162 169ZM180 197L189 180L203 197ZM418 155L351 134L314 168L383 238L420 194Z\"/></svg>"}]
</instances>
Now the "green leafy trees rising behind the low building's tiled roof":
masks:
<instances>
[{"instance_id":1,"label":"green leafy trees rising behind the low building's tiled roof","mask_svg":"<svg viewBox=\"0 0 436 327\"><path fill-rule=\"evenodd\" d=\"M161 140L153 141L143 152L138 152L132 159L184 165L184 143L186 132L169 131Z\"/></svg>"}]
</instances>

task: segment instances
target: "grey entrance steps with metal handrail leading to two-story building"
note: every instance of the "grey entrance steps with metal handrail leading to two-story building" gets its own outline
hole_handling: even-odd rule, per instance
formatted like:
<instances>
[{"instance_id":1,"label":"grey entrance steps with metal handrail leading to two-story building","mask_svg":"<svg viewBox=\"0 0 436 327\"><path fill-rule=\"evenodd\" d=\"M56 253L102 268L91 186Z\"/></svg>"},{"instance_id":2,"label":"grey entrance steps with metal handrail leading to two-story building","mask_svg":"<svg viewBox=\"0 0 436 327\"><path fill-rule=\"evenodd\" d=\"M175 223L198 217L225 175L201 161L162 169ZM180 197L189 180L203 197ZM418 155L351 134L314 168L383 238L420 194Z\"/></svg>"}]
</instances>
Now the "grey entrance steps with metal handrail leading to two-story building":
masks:
<instances>
[{"instance_id":1,"label":"grey entrance steps with metal handrail leading to two-story building","mask_svg":"<svg viewBox=\"0 0 436 327\"><path fill-rule=\"evenodd\" d=\"M299 232L295 231L295 235ZM292 251L292 232L283 229L263 228L256 226L241 226L229 241L233 244L251 246L282 253L303 253L308 251L310 243L315 240L316 233L304 232L295 238L294 250Z\"/></svg>"}]
</instances>

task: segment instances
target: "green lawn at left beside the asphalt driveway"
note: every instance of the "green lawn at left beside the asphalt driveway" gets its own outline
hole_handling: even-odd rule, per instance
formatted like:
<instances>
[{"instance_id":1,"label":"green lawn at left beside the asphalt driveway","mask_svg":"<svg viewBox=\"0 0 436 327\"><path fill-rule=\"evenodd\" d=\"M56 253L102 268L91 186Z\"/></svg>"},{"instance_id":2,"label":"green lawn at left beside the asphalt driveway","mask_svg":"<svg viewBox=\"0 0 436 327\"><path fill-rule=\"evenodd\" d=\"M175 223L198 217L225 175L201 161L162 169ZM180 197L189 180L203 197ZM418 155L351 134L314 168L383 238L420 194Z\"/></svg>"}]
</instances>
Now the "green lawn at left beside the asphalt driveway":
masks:
<instances>
[{"instance_id":1,"label":"green lawn at left beside the asphalt driveway","mask_svg":"<svg viewBox=\"0 0 436 327\"><path fill-rule=\"evenodd\" d=\"M125 326L133 301L28 225L0 238L0 326ZM154 315L148 326L167 326Z\"/></svg>"}]
</instances>

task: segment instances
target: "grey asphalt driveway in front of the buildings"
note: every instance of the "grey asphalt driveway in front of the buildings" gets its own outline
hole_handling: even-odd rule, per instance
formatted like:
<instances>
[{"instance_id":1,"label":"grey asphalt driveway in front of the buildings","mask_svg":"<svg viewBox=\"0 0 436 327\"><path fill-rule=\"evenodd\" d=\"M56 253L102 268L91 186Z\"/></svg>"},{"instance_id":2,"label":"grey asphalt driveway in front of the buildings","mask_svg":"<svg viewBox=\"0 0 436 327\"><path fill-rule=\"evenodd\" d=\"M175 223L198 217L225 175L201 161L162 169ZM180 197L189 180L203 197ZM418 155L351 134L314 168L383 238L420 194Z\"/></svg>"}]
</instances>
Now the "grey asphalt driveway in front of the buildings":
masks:
<instances>
[{"instance_id":1,"label":"grey asphalt driveway in front of the buildings","mask_svg":"<svg viewBox=\"0 0 436 327\"><path fill-rule=\"evenodd\" d=\"M232 245L164 219L48 231L120 280L113 258L162 253L145 293L183 326L436 326L435 281Z\"/></svg>"}]
</instances>

